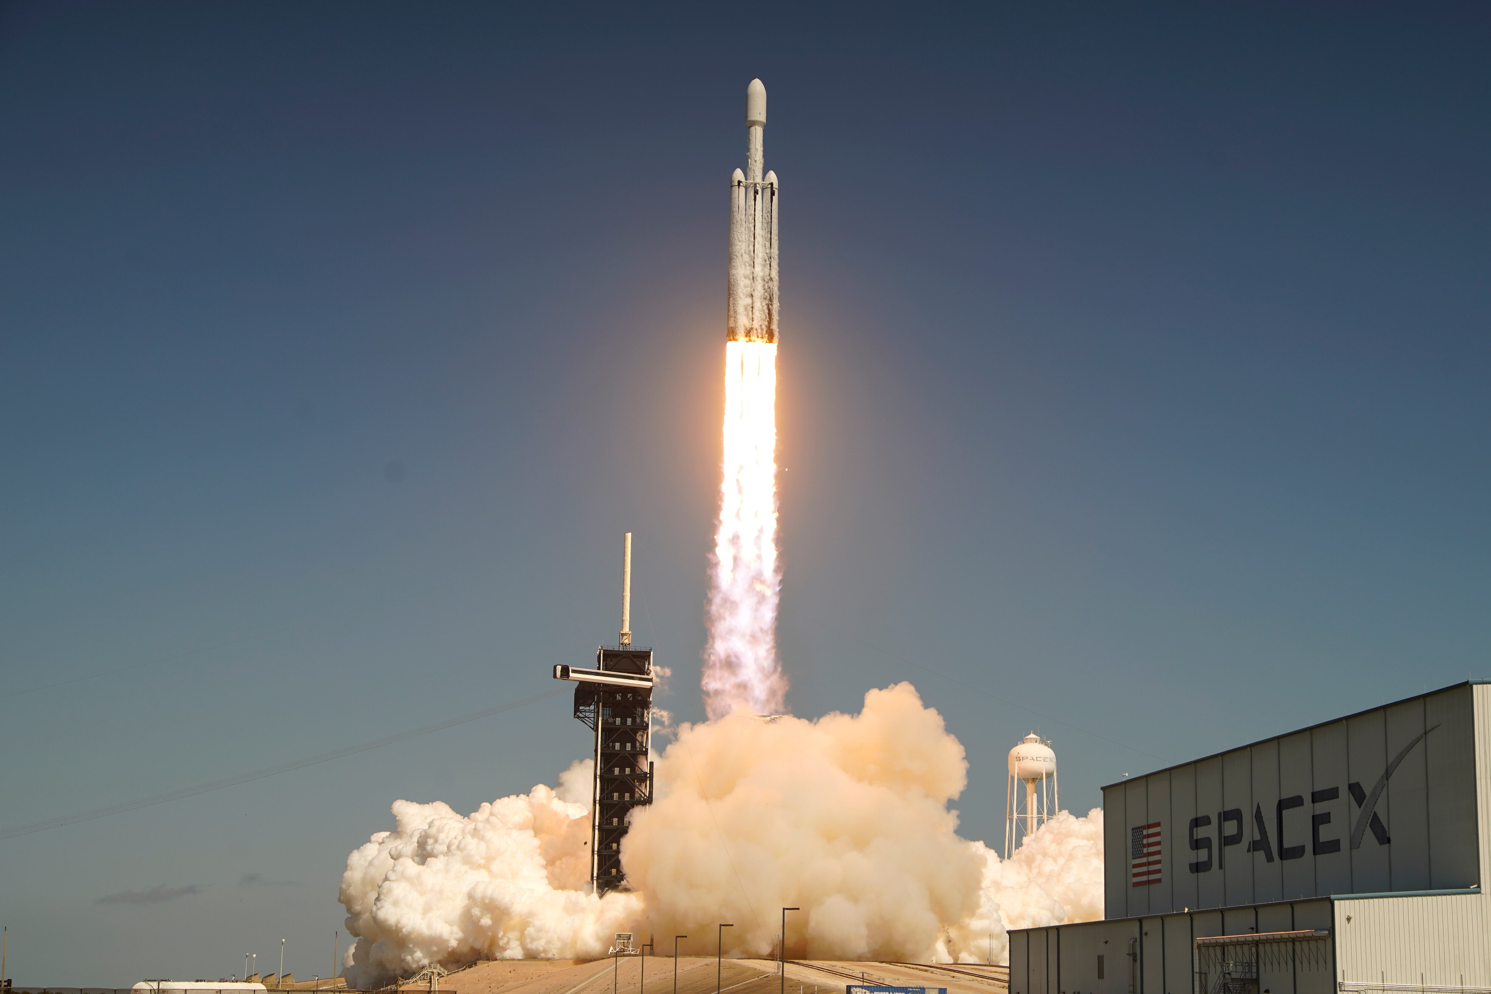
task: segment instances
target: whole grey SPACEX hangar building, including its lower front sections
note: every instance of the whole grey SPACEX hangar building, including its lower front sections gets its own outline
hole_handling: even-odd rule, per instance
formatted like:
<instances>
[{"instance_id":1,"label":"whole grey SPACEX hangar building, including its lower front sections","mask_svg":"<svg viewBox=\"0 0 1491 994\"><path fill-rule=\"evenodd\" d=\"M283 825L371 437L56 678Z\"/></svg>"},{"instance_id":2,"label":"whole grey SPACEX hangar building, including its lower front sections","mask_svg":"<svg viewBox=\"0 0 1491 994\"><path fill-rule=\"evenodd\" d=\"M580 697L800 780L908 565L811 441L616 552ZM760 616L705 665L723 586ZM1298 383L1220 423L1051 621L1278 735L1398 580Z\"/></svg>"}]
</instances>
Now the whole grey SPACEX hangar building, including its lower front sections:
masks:
<instances>
[{"instance_id":1,"label":"whole grey SPACEX hangar building, including its lower front sections","mask_svg":"<svg viewBox=\"0 0 1491 994\"><path fill-rule=\"evenodd\" d=\"M1103 921L1009 933L1009 994L1491 991L1491 684L1103 788Z\"/></svg>"}]
</instances>

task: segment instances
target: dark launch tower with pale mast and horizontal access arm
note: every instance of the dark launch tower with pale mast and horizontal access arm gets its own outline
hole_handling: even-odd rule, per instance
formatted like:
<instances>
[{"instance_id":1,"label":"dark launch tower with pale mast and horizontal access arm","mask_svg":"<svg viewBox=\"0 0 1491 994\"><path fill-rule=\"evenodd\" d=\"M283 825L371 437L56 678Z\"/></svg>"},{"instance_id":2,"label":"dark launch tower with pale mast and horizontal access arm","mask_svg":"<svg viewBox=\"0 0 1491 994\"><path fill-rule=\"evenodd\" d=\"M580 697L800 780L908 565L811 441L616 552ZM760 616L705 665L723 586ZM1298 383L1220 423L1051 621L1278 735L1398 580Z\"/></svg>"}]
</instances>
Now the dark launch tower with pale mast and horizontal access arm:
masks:
<instances>
[{"instance_id":1,"label":"dark launch tower with pale mast and horizontal access arm","mask_svg":"<svg viewBox=\"0 0 1491 994\"><path fill-rule=\"evenodd\" d=\"M635 808L653 799L653 651L632 645L632 534L622 545L622 630L616 645L595 650L595 669L555 666L574 681L574 717L595 733L590 784L590 885L596 894L626 888L622 839Z\"/></svg>"}]
</instances>

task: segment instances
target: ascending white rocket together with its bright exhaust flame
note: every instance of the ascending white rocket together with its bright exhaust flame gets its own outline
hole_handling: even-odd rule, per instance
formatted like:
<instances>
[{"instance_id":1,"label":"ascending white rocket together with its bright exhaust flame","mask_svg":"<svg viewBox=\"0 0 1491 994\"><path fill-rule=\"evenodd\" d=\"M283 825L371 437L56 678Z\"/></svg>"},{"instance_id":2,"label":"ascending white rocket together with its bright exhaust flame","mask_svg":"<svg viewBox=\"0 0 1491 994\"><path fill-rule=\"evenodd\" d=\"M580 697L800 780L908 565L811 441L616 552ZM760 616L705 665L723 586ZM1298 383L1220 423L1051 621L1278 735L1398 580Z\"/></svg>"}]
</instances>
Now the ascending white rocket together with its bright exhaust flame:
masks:
<instances>
[{"instance_id":1,"label":"ascending white rocket together with its bright exhaust flame","mask_svg":"<svg viewBox=\"0 0 1491 994\"><path fill-rule=\"evenodd\" d=\"M777 659L777 174L762 176L766 88L746 88L746 171L731 177L720 520L702 690L711 718L783 709Z\"/></svg>"}]
</instances>

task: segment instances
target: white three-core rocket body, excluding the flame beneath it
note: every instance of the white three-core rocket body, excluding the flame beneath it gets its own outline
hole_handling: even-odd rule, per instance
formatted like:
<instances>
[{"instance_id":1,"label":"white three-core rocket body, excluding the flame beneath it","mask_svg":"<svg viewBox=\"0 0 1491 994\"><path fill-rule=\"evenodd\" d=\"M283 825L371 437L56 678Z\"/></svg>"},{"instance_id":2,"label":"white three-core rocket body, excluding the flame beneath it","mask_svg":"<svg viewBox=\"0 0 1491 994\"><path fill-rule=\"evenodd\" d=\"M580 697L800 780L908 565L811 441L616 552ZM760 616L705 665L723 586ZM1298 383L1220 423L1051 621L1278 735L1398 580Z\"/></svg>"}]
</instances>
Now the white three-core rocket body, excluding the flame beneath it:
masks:
<instances>
[{"instance_id":1,"label":"white three-core rocket body, excluding the flame beneath it","mask_svg":"<svg viewBox=\"0 0 1491 994\"><path fill-rule=\"evenodd\" d=\"M746 88L746 171L731 177L726 341L777 341L777 174L760 174L766 88Z\"/></svg>"}]
</instances>

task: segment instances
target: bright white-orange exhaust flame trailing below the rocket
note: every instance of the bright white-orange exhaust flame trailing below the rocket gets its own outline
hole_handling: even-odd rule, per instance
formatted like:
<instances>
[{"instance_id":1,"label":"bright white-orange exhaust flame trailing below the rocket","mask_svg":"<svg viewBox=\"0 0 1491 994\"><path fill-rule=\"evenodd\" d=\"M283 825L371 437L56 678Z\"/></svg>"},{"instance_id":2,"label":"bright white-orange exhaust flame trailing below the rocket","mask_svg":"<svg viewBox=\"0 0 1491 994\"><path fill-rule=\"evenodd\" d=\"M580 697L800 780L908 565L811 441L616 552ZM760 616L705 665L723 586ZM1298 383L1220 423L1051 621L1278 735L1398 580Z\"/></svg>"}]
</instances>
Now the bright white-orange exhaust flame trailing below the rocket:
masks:
<instances>
[{"instance_id":1,"label":"bright white-orange exhaust flame trailing below the rocket","mask_svg":"<svg viewBox=\"0 0 1491 994\"><path fill-rule=\"evenodd\" d=\"M787 677L777 660L777 344L725 343L725 463L710 556L704 703L778 714Z\"/></svg>"}]
</instances>

